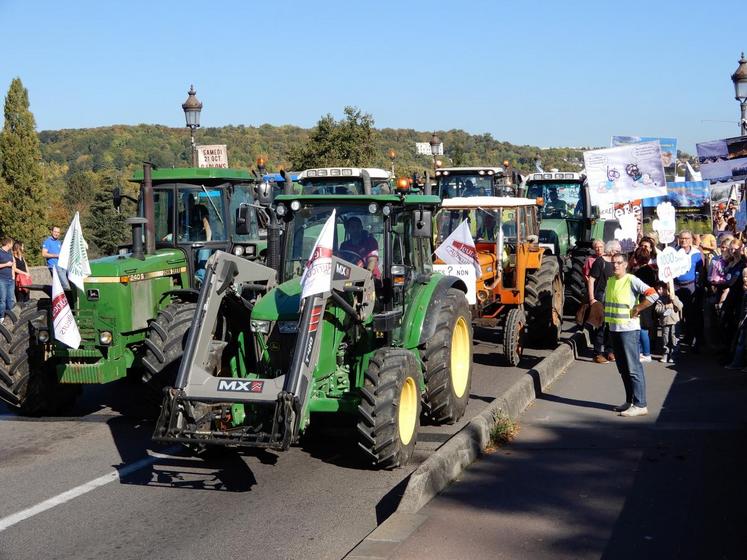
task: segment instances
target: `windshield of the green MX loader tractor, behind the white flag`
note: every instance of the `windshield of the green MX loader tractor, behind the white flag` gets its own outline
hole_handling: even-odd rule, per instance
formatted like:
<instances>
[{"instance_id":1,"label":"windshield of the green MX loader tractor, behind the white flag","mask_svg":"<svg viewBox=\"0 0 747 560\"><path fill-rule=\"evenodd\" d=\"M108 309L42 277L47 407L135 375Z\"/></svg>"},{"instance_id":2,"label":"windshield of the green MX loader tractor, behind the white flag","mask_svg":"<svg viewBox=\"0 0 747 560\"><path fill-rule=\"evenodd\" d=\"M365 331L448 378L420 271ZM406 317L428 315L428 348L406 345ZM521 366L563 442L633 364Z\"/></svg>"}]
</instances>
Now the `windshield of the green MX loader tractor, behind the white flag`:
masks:
<instances>
[{"instance_id":1,"label":"windshield of the green MX loader tractor, behind the white flag","mask_svg":"<svg viewBox=\"0 0 747 560\"><path fill-rule=\"evenodd\" d=\"M371 212L370 210L374 209ZM314 243L332 214L332 206L305 205L295 212L286 235L284 277L299 276ZM376 205L338 206L335 218L333 252L381 277L384 256L384 216Z\"/></svg>"}]
</instances>

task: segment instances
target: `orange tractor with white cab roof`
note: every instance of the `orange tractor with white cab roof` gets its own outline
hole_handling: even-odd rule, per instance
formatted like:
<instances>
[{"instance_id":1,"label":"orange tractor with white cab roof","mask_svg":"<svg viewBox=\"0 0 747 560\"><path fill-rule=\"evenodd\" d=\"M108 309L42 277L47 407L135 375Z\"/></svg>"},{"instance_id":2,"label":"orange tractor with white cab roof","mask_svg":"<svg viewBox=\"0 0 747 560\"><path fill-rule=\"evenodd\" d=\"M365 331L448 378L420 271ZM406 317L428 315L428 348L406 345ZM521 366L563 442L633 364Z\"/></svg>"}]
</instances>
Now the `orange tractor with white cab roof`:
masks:
<instances>
[{"instance_id":1,"label":"orange tractor with white cab roof","mask_svg":"<svg viewBox=\"0 0 747 560\"><path fill-rule=\"evenodd\" d=\"M563 283L557 257L539 245L539 206L529 198L445 198L436 218L437 246L469 221L480 265L479 273L474 267L470 273L473 322L497 329L511 366L519 363L525 341L555 345L561 330Z\"/></svg>"}]
</instances>

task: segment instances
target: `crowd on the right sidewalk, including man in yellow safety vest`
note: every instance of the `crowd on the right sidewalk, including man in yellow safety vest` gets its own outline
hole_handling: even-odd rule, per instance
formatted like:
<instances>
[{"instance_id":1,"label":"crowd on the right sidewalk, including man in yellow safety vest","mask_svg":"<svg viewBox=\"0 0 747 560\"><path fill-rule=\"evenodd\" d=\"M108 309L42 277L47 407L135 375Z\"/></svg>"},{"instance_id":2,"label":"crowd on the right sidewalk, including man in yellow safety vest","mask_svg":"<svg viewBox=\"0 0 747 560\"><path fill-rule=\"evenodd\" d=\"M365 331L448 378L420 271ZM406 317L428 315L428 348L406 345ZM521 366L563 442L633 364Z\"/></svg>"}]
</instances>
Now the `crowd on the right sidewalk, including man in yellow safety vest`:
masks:
<instances>
[{"instance_id":1,"label":"crowd on the right sidewalk, including man in yellow safety vest","mask_svg":"<svg viewBox=\"0 0 747 560\"><path fill-rule=\"evenodd\" d=\"M618 241L595 240L584 265L594 362L616 362L626 390L623 416L647 413L642 363L658 355L675 363L687 353L709 353L729 369L747 373L747 247L729 232L718 238L681 231L676 246L689 269L659 280L664 246L644 236L630 254ZM635 339L633 341L633 339Z\"/></svg>"}]
</instances>

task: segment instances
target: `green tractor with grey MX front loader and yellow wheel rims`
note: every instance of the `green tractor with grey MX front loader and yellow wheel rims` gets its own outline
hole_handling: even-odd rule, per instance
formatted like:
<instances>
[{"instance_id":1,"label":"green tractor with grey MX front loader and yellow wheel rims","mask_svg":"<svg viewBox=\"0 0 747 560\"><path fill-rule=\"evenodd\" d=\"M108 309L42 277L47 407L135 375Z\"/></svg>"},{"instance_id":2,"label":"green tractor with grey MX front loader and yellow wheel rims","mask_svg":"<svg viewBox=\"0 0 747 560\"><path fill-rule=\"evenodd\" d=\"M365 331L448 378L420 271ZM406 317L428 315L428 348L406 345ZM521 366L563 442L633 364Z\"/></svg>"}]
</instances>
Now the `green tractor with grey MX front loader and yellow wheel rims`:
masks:
<instances>
[{"instance_id":1,"label":"green tractor with grey MX front loader and yellow wheel rims","mask_svg":"<svg viewBox=\"0 0 747 560\"><path fill-rule=\"evenodd\" d=\"M285 450L317 414L343 414L371 465L405 464L421 412L455 422L470 393L466 286L431 263L438 205L429 193L279 196L281 265L211 258L154 439ZM302 298L333 211L330 289Z\"/></svg>"}]
</instances>

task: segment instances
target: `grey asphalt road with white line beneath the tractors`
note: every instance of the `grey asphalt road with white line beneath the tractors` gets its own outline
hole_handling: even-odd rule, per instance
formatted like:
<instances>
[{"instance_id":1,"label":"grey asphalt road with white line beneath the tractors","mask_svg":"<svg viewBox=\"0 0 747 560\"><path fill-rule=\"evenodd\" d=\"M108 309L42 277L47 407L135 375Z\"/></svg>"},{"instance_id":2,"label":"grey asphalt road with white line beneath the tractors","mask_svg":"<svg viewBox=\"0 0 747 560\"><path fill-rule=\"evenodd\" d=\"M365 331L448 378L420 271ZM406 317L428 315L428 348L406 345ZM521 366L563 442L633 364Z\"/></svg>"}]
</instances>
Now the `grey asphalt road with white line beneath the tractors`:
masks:
<instances>
[{"instance_id":1,"label":"grey asphalt road with white line beneath the tractors","mask_svg":"<svg viewBox=\"0 0 747 560\"><path fill-rule=\"evenodd\" d=\"M0 560L341 558L394 511L420 462L549 352L527 349L505 368L498 350L476 340L464 419L423 426L394 471L366 468L345 429L284 453L158 446L126 382L88 388L65 418L0 406Z\"/></svg>"}]
</instances>

